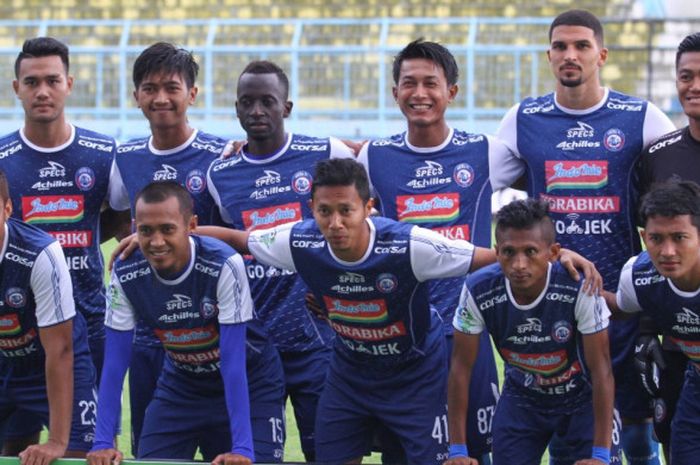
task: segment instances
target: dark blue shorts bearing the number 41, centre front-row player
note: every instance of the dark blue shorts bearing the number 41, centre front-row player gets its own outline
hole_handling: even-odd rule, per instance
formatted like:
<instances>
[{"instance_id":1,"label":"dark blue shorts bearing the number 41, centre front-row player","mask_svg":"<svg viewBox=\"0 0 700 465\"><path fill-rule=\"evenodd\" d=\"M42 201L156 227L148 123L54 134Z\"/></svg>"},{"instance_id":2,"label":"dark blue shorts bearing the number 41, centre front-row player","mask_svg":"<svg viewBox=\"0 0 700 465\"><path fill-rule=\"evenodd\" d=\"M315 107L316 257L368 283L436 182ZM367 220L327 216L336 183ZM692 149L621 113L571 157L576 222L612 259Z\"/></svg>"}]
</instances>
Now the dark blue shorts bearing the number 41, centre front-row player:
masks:
<instances>
[{"instance_id":1,"label":"dark blue shorts bearing the number 41, centre front-row player","mask_svg":"<svg viewBox=\"0 0 700 465\"><path fill-rule=\"evenodd\" d=\"M447 458L445 339L424 357L395 367L368 367L333 355L316 415L316 460L341 464L369 450L376 424L398 437L410 465Z\"/></svg>"}]
</instances>

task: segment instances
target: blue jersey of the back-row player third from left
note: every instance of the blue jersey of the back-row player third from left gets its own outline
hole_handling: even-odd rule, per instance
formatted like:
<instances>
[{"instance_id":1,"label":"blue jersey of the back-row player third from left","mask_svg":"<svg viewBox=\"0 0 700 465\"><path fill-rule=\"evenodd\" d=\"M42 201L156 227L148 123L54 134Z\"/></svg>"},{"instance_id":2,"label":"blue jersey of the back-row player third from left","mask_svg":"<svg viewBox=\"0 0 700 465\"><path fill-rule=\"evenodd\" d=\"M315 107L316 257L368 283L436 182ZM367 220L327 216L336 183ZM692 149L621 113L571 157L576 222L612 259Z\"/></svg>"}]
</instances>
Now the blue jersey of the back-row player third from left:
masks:
<instances>
[{"instance_id":1,"label":"blue jersey of the back-row player third from left","mask_svg":"<svg viewBox=\"0 0 700 465\"><path fill-rule=\"evenodd\" d=\"M334 138L288 134L284 146L266 157L241 154L217 160L208 173L209 190L225 222L257 231L311 218L311 172L320 161L352 157ZM325 346L332 332L313 318L304 304L307 288L290 271L265 266L246 257L246 269L259 318L282 351Z\"/></svg>"}]
</instances>

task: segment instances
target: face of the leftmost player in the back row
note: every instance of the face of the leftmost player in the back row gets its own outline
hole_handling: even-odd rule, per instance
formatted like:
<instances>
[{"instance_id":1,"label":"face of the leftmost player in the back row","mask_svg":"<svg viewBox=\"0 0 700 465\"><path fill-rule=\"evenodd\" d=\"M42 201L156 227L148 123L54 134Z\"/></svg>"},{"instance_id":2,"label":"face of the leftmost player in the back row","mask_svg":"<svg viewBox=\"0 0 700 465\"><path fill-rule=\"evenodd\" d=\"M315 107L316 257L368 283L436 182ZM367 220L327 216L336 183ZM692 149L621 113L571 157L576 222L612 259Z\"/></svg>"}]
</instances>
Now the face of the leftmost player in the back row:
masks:
<instances>
[{"instance_id":1,"label":"face of the leftmost player in the back row","mask_svg":"<svg viewBox=\"0 0 700 465\"><path fill-rule=\"evenodd\" d=\"M63 117L73 78L66 74L58 55L25 58L12 87L22 102L26 121L47 124Z\"/></svg>"}]
</instances>

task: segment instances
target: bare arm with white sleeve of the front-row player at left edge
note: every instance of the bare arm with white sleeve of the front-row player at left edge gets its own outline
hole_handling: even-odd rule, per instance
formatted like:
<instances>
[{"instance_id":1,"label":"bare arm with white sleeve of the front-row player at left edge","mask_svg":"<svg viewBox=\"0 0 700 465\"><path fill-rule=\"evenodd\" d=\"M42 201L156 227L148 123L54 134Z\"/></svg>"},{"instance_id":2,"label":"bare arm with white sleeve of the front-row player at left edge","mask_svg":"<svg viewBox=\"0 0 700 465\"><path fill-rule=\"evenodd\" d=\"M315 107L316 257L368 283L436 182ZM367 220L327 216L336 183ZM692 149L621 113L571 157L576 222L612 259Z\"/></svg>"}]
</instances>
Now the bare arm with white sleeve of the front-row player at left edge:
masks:
<instances>
[{"instance_id":1,"label":"bare arm with white sleeve of the front-row player at left edge","mask_svg":"<svg viewBox=\"0 0 700 465\"><path fill-rule=\"evenodd\" d=\"M30 285L36 302L39 339L44 348L49 436L20 453L23 465L47 465L66 452L73 412L73 287L58 242L34 261Z\"/></svg>"}]
</instances>

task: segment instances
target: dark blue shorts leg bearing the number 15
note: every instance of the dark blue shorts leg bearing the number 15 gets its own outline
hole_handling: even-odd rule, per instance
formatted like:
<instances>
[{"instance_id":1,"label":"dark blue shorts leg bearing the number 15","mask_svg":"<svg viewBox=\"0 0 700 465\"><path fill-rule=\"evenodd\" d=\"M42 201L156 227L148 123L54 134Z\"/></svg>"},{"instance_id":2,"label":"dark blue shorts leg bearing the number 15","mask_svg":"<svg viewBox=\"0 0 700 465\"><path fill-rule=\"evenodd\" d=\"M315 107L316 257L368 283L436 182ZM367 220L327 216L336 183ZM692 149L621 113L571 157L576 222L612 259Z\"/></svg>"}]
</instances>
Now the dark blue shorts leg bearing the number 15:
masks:
<instances>
[{"instance_id":1,"label":"dark blue shorts leg bearing the number 15","mask_svg":"<svg viewBox=\"0 0 700 465\"><path fill-rule=\"evenodd\" d=\"M284 456L284 372L277 349L268 343L246 352L253 450L258 462L281 463ZM229 439L230 442L230 439Z\"/></svg>"}]
</instances>

